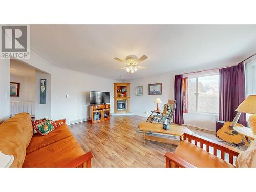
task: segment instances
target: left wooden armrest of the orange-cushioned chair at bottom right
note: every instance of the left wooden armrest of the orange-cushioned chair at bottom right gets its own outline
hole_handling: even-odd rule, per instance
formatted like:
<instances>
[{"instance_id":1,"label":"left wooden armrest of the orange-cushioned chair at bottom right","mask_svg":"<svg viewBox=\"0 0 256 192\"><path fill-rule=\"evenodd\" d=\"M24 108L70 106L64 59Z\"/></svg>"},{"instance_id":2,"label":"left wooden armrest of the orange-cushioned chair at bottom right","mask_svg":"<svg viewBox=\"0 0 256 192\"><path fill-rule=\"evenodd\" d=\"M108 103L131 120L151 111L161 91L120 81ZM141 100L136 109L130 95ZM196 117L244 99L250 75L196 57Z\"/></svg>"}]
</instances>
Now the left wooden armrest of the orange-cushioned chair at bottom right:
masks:
<instances>
[{"instance_id":1,"label":"left wooden armrest of the orange-cushioned chair at bottom right","mask_svg":"<svg viewBox=\"0 0 256 192\"><path fill-rule=\"evenodd\" d=\"M190 164L184 159L181 159L179 156L173 154L172 152L166 152L164 156L166 157L166 168L173 168L172 163L175 164L174 168L196 168L193 164Z\"/></svg>"}]
</instances>

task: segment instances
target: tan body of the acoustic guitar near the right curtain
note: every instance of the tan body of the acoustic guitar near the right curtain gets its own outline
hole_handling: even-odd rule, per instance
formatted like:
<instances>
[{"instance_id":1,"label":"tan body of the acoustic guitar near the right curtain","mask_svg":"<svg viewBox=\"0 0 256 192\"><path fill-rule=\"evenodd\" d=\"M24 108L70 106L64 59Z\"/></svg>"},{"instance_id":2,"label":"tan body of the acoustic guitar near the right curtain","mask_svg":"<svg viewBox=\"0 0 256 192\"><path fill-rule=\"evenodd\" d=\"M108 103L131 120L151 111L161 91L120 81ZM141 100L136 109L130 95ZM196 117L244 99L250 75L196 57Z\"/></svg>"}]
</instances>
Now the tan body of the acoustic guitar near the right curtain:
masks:
<instances>
[{"instance_id":1,"label":"tan body of the acoustic guitar near the right curtain","mask_svg":"<svg viewBox=\"0 0 256 192\"><path fill-rule=\"evenodd\" d=\"M236 124L236 126L243 126L239 123ZM234 127L232 126L232 122L225 122L223 127L217 131L217 136L232 144L239 144L242 142L242 136L238 134L237 131L234 130Z\"/></svg>"}]
</instances>

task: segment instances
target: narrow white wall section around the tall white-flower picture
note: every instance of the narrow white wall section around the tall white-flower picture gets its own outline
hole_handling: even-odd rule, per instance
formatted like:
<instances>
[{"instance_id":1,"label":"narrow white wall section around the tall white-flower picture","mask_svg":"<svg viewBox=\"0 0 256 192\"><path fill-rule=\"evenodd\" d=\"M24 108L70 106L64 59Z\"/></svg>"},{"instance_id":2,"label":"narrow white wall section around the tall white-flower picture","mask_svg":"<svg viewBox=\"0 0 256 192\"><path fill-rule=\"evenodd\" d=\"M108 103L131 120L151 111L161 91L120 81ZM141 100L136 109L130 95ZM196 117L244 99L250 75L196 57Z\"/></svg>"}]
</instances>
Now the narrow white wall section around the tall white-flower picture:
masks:
<instances>
[{"instance_id":1,"label":"narrow white wall section around the tall white-flower picture","mask_svg":"<svg viewBox=\"0 0 256 192\"><path fill-rule=\"evenodd\" d=\"M40 81L46 79L46 104L40 104ZM35 71L35 119L51 119L51 74Z\"/></svg>"}]
</instances>

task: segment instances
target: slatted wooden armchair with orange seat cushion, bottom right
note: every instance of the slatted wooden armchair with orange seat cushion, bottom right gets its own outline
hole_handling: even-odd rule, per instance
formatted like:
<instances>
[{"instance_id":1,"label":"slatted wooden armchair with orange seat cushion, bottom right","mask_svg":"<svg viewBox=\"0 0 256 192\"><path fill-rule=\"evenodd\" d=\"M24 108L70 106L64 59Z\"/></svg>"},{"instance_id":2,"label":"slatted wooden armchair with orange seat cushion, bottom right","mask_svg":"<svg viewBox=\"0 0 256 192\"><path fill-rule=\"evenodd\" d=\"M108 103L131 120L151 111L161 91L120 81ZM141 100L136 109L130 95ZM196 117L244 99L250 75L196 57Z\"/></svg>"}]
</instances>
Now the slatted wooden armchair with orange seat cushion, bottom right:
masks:
<instances>
[{"instance_id":1,"label":"slatted wooden armchair with orange seat cushion, bottom right","mask_svg":"<svg viewBox=\"0 0 256 192\"><path fill-rule=\"evenodd\" d=\"M199 146L198 146L199 145ZM174 153L166 152L167 168L234 167L241 151L198 135L183 134ZM218 157L219 156L219 157Z\"/></svg>"}]
</instances>

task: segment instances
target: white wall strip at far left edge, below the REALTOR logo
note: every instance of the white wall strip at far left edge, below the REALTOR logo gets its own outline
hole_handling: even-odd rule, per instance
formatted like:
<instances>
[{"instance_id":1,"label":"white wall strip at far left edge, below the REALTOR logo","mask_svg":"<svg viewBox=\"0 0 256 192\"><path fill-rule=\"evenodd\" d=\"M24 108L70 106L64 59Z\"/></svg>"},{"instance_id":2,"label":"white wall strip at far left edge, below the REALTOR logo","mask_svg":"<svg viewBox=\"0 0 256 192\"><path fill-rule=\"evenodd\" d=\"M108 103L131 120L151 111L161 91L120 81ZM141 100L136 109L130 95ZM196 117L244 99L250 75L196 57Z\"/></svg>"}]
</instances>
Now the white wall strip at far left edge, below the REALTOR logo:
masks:
<instances>
[{"instance_id":1,"label":"white wall strip at far left edge, below the REALTOR logo","mask_svg":"<svg viewBox=\"0 0 256 192\"><path fill-rule=\"evenodd\" d=\"M10 115L10 59L0 59L0 122Z\"/></svg>"}]
</instances>

